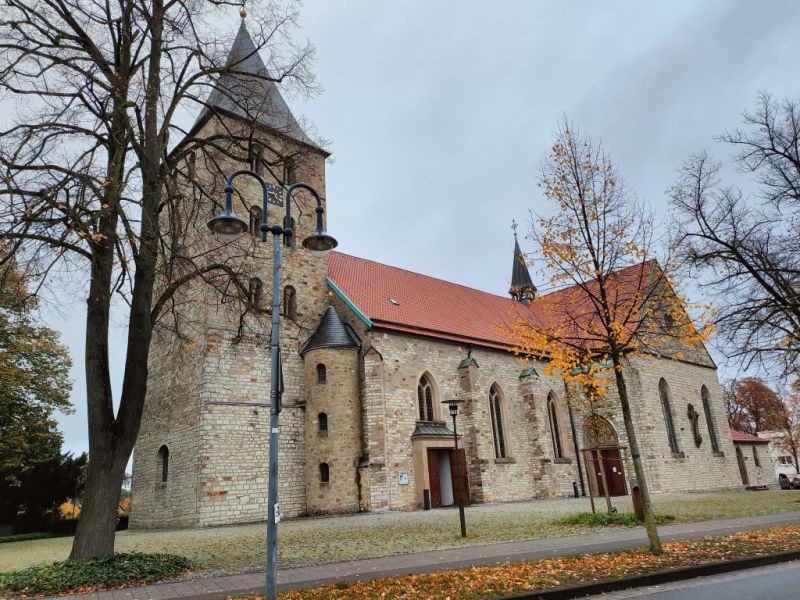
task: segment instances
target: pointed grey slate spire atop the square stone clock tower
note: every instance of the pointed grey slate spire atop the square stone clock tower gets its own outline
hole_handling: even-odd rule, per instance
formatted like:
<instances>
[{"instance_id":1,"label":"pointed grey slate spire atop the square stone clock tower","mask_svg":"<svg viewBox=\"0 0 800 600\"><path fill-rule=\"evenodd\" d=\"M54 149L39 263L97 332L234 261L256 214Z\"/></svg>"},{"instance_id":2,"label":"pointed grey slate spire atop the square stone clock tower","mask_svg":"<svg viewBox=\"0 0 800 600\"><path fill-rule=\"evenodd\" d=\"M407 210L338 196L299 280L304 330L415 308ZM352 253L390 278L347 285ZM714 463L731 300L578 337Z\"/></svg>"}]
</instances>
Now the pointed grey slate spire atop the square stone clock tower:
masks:
<instances>
[{"instance_id":1,"label":"pointed grey slate spire atop the square stone clock tower","mask_svg":"<svg viewBox=\"0 0 800 600\"><path fill-rule=\"evenodd\" d=\"M244 18L225 66L233 72L224 72L219 76L200 119L210 112L225 113L318 148L294 118L277 84L265 79L269 77L269 72L247 31Z\"/></svg>"}]
</instances>

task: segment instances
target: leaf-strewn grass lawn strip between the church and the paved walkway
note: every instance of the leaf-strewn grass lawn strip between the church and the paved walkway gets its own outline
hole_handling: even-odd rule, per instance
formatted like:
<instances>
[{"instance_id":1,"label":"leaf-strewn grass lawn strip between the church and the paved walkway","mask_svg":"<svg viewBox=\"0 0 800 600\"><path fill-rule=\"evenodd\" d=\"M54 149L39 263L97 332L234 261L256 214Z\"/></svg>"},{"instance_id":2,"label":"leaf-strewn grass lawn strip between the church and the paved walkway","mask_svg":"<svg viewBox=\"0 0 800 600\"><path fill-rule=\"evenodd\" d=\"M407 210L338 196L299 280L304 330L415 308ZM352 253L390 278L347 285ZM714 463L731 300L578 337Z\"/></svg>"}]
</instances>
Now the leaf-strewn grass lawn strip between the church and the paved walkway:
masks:
<instances>
[{"instance_id":1,"label":"leaf-strewn grass lawn strip between the church and the paved walkway","mask_svg":"<svg viewBox=\"0 0 800 600\"><path fill-rule=\"evenodd\" d=\"M800 492L727 492L664 494L655 497L659 514L675 522L754 516L800 510ZM630 498L617 498L620 511L632 510ZM604 503L598 505L604 509ZM586 527L559 525L564 515L587 511L588 499L537 500L467 509L469 536L462 540L455 510L352 515L287 520L280 527L280 563L299 566L344 559L370 558L462 545L569 535ZM176 531L123 531L119 552L167 552L186 556L214 570L236 572L263 568L263 523ZM0 544L0 571L63 560L72 538Z\"/></svg>"}]
</instances>

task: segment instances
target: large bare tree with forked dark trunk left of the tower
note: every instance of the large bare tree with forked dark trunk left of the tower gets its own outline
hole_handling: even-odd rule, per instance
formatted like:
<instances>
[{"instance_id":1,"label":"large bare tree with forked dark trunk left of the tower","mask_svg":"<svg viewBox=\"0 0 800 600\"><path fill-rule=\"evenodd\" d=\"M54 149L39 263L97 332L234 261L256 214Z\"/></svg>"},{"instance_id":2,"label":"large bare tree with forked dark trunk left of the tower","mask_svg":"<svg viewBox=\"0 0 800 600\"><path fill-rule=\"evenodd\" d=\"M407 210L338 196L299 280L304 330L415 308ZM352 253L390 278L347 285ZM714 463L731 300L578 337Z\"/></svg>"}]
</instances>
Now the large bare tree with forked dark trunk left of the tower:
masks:
<instances>
[{"instance_id":1,"label":"large bare tree with forked dark trunk left of the tower","mask_svg":"<svg viewBox=\"0 0 800 600\"><path fill-rule=\"evenodd\" d=\"M230 39L218 38L212 25L234 10L229 2L7 0L0 7L0 92L18 108L0 134L0 260L16 257L40 289L56 290L65 279L88 288L90 459L71 558L114 551L151 337L156 326L180 325L168 318L177 314L179 290L213 286L247 308L241 256L215 252L200 231L208 203L218 203L195 165L202 161L213 178L220 161L245 164L250 157L259 113L270 106L237 85L283 82L316 91L312 48L292 41L295 6L251 4L250 54L265 50L269 72L246 69L251 56L225 61ZM241 126L219 121L214 134L201 137L182 125L187 113L220 106ZM116 410L109 374L115 297L127 329Z\"/></svg>"}]
</instances>

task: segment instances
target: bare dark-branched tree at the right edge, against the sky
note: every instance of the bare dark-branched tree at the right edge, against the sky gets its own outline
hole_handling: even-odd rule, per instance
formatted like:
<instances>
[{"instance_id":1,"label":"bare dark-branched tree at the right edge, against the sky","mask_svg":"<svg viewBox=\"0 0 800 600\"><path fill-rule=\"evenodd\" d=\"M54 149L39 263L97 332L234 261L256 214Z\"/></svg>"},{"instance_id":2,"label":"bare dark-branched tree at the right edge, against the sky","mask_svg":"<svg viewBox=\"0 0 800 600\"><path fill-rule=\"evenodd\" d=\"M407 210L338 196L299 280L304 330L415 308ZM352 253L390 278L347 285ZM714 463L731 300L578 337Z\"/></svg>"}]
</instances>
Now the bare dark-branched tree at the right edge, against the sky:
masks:
<instances>
[{"instance_id":1,"label":"bare dark-branched tree at the right edge, against the sky","mask_svg":"<svg viewBox=\"0 0 800 600\"><path fill-rule=\"evenodd\" d=\"M758 191L723 185L721 164L690 158L671 189L678 246L693 278L715 299L723 352L744 366L800 359L800 106L761 93L744 130L719 140Z\"/></svg>"}]
</instances>

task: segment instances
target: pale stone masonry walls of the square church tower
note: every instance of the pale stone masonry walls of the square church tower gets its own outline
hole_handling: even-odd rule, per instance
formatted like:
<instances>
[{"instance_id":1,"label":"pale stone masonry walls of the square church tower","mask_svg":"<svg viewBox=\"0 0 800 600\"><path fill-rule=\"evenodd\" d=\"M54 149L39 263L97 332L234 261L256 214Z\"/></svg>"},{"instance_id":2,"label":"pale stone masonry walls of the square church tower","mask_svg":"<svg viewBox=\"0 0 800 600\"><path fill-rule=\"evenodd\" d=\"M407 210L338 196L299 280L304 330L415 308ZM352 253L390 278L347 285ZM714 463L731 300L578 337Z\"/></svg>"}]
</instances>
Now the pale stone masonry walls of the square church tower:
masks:
<instances>
[{"instance_id":1,"label":"pale stone masonry walls of the square church tower","mask_svg":"<svg viewBox=\"0 0 800 600\"><path fill-rule=\"evenodd\" d=\"M226 127L244 125L227 120ZM200 135L224 131L212 120ZM266 142L265 148L294 157L295 181L314 187L324 205L324 154L266 130L258 135ZM248 234L224 246L213 240L204 220L221 210L224 176L246 166L222 153L214 158L222 175L212 175L205 170L204 161L197 160L197 176L205 181L209 200L206 210L195 213L198 223L188 243L197 253L207 253L210 260L232 265L245 287L250 277L260 279L261 299L255 310L243 316L246 307L233 293L235 287L229 286L223 293L212 288L193 290L178 311L182 320L198 325L190 342L169 335L154 342L145 418L135 452L133 505L138 508L133 509L132 526L211 526L266 517L272 240L270 235L267 243L261 243ZM277 181L269 173L265 178ZM245 178L237 179L234 186L234 208L247 220L250 206L261 206L260 188ZM327 292L326 259L312 256L301 244L314 230L315 208L310 194L294 195L295 242L293 247L282 246L282 313L285 287L291 285L297 292L296 315L281 316L285 393L280 417L279 501L286 516L306 512L303 364L298 349L319 322ZM271 223L282 222L284 214L284 207L270 205ZM181 355L182 348L192 350ZM174 423L174 429L165 430L162 421ZM174 473L180 485L154 482L154 477L160 476L160 472L155 474L154 452L157 454L163 439L170 444L170 477Z\"/></svg>"}]
</instances>

